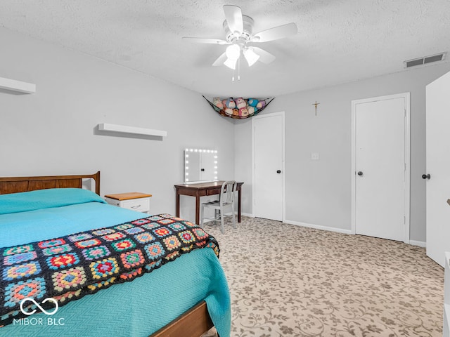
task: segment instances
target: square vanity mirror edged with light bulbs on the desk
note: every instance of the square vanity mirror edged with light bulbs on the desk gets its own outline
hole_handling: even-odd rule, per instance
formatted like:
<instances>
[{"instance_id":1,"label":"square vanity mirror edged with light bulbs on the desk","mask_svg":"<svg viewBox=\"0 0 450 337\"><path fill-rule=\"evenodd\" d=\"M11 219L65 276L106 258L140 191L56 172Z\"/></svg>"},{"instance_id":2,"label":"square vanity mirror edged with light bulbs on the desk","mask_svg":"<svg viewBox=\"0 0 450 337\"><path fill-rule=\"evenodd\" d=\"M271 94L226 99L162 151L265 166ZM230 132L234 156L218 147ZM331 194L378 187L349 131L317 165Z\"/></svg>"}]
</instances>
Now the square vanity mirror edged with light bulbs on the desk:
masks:
<instances>
[{"instance_id":1,"label":"square vanity mirror edged with light bulbs on the desk","mask_svg":"<svg viewBox=\"0 0 450 337\"><path fill-rule=\"evenodd\" d=\"M217 150L184 150L184 183L205 183L217 180Z\"/></svg>"}]
</instances>

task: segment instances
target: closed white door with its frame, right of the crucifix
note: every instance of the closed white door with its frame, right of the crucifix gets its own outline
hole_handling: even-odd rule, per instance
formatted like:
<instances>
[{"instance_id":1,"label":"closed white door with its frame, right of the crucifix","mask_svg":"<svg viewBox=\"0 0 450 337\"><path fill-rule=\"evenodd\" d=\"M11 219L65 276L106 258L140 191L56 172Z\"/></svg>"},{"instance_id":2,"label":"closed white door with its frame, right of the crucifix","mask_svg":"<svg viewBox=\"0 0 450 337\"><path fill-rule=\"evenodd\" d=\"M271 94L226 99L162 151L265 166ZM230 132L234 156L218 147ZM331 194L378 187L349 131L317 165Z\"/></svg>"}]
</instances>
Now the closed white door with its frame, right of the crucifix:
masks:
<instances>
[{"instance_id":1,"label":"closed white door with its frame, right of the crucifix","mask_svg":"<svg viewBox=\"0 0 450 337\"><path fill-rule=\"evenodd\" d=\"M409 93L352 102L354 232L409 243Z\"/></svg>"}]
</instances>

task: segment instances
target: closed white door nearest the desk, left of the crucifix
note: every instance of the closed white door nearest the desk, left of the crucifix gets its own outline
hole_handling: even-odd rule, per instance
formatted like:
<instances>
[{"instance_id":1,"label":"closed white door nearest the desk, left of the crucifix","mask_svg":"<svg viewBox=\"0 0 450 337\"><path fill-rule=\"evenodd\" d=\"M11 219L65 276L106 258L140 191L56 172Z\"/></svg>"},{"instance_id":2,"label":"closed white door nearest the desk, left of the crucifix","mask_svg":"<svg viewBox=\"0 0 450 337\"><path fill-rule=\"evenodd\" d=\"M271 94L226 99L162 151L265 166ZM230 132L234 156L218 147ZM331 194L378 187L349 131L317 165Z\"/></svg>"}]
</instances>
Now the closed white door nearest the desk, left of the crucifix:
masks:
<instances>
[{"instance_id":1,"label":"closed white door nearest the desk, left of the crucifix","mask_svg":"<svg viewBox=\"0 0 450 337\"><path fill-rule=\"evenodd\" d=\"M253 215L283 220L284 113L253 117Z\"/></svg>"}]
</instances>

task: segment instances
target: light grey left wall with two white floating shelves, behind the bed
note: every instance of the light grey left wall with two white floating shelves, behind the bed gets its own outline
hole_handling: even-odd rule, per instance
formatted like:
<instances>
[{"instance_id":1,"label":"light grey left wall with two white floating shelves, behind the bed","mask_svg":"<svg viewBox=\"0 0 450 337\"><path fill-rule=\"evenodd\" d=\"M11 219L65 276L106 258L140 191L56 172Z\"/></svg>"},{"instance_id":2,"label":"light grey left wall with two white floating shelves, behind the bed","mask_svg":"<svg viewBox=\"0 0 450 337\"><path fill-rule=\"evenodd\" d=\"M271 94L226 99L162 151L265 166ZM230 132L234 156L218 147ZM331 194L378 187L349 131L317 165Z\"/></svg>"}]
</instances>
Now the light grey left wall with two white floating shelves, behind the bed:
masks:
<instances>
[{"instance_id":1,"label":"light grey left wall with two white floating shelves, behind the bed","mask_svg":"<svg viewBox=\"0 0 450 337\"><path fill-rule=\"evenodd\" d=\"M0 77L37 84L32 95L0 91L0 176L100 170L102 196L148 192L152 213L174 213L185 147L217 149L219 178L233 178L233 123L199 93L7 29L0 41ZM99 123L168 136L101 136ZM190 220L192 199L182 199L181 216Z\"/></svg>"}]
</instances>

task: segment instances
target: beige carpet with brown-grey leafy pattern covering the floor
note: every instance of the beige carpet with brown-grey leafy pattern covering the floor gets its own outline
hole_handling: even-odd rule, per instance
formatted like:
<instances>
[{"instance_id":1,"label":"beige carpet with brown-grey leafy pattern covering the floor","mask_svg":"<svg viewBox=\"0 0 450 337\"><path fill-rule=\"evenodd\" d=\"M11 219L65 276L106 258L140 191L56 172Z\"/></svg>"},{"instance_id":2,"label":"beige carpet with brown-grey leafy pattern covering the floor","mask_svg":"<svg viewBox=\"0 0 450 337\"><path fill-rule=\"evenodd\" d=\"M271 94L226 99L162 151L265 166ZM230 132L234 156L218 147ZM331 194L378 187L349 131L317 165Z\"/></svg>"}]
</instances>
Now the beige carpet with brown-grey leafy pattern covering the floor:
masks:
<instances>
[{"instance_id":1,"label":"beige carpet with brown-grey leafy pattern covering the floor","mask_svg":"<svg viewBox=\"0 0 450 337\"><path fill-rule=\"evenodd\" d=\"M442 336L444 270L425 249L243 217L207 223L231 291L231 336Z\"/></svg>"}]
</instances>

